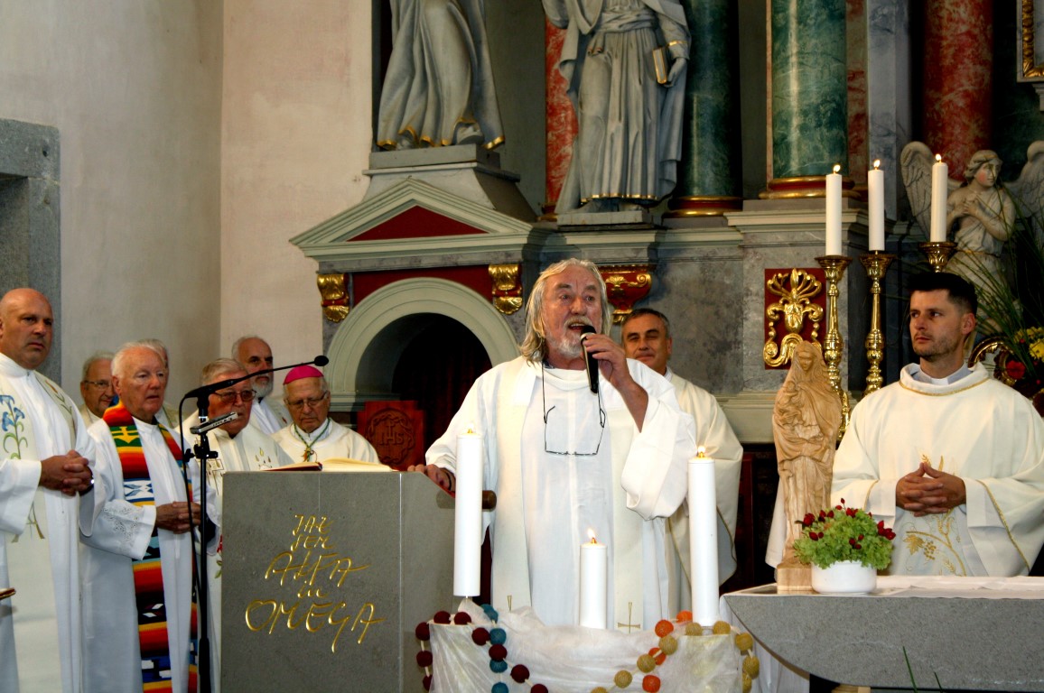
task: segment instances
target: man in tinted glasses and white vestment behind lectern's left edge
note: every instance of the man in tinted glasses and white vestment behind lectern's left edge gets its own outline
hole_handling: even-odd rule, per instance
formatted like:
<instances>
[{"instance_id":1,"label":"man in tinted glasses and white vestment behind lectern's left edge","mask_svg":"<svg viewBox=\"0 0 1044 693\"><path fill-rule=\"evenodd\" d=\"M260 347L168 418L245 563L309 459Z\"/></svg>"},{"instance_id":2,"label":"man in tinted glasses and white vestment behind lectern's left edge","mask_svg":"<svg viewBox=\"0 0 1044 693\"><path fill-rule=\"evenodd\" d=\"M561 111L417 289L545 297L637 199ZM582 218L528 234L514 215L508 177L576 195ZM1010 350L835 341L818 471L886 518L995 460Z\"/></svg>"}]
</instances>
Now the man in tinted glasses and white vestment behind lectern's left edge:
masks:
<instances>
[{"instance_id":1,"label":"man in tinted glasses and white vestment behind lectern's left edge","mask_svg":"<svg viewBox=\"0 0 1044 693\"><path fill-rule=\"evenodd\" d=\"M203 368L199 378L200 385L210 385L223 380L246 378L250 374L243 366L232 359L217 359ZM251 380L244 380L230 387L214 392L209 398L207 415L211 419L235 412L237 417L208 433L210 449L217 457L207 460L207 486L213 489L208 495L208 502L214 499L214 506L207 512L212 518L221 517L221 501L224 497L224 475L229 472L260 472L289 464L291 460L283 449L276 444L270 435L261 429L251 426L252 406L256 401L256 391ZM194 413L185 420L182 428L188 431L198 426L199 414ZM198 487L192 489L193 500L199 502ZM220 522L218 522L220 531ZM220 536L220 534L218 534ZM207 600L207 615L210 630L211 649L211 691L221 690L221 542L208 551L207 584L210 590Z\"/></svg>"}]
</instances>

